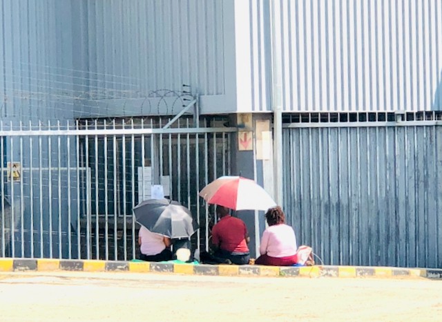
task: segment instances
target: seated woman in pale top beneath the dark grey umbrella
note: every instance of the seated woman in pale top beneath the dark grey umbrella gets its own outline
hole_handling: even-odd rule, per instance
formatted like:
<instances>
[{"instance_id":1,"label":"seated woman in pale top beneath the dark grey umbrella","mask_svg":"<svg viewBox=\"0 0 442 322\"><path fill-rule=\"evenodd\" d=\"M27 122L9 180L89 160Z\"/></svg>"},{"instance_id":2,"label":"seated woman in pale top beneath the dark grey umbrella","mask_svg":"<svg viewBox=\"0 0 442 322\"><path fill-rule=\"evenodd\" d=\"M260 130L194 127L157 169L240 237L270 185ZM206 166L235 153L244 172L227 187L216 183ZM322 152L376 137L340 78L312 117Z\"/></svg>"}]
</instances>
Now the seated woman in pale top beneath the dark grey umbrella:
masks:
<instances>
[{"instance_id":1,"label":"seated woman in pale top beneath the dark grey umbrella","mask_svg":"<svg viewBox=\"0 0 442 322\"><path fill-rule=\"evenodd\" d=\"M142 261L161 262L172 259L171 238L155 234L144 226L138 231L138 244Z\"/></svg>"}]
</instances>

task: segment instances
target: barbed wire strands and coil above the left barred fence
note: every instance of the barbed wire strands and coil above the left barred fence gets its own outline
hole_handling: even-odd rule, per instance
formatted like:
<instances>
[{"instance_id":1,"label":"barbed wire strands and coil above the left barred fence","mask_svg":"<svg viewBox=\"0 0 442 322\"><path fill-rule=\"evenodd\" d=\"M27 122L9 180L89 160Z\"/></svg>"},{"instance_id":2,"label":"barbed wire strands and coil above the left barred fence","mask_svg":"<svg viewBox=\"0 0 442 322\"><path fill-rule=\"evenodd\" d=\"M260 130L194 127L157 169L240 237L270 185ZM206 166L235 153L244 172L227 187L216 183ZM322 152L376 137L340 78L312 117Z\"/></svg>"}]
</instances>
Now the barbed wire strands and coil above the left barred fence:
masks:
<instances>
[{"instance_id":1,"label":"barbed wire strands and coil above the left barred fence","mask_svg":"<svg viewBox=\"0 0 442 322\"><path fill-rule=\"evenodd\" d=\"M12 64L12 61L4 62ZM135 77L27 63L19 66L3 68L3 95L0 94L0 115L3 117L25 119L35 111L37 118L44 118L44 114L50 111L66 112L69 109L80 118L153 113L174 115L195 100L190 86L184 84L181 90L148 90L146 80ZM23 66L34 66L35 70ZM13 104L14 108L8 109L6 115L5 106L8 104ZM121 113L111 109L115 105L121 106Z\"/></svg>"}]
</instances>

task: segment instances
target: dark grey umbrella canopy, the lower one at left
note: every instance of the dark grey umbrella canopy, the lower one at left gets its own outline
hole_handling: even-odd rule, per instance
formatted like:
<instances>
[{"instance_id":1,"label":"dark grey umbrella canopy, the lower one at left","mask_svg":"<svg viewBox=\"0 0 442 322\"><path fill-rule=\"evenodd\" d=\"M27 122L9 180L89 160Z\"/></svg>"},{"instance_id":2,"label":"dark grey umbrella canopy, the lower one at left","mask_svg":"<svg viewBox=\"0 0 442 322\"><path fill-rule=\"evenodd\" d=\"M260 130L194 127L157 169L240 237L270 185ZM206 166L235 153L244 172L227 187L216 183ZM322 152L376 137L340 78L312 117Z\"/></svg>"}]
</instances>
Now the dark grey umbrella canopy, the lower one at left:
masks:
<instances>
[{"instance_id":1,"label":"dark grey umbrella canopy, the lower one at left","mask_svg":"<svg viewBox=\"0 0 442 322\"><path fill-rule=\"evenodd\" d=\"M169 199L144 200L133 208L133 213L140 225L170 238L189 238L198 229L191 211Z\"/></svg>"}]
</instances>

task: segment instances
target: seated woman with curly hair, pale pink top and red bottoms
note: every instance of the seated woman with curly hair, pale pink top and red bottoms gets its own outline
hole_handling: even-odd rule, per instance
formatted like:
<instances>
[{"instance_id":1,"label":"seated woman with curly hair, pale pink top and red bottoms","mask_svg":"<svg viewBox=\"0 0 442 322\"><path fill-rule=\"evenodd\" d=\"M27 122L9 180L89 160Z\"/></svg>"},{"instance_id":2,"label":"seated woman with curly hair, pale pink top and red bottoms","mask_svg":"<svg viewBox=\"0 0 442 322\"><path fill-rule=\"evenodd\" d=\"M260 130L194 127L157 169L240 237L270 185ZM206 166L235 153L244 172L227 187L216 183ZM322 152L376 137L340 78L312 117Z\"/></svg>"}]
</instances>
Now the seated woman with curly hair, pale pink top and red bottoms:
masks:
<instances>
[{"instance_id":1,"label":"seated woman with curly hair, pale pink top and red bottoms","mask_svg":"<svg viewBox=\"0 0 442 322\"><path fill-rule=\"evenodd\" d=\"M296 236L293 228L285 225L281 207L274 207L265 214L269 227L261 238L260 254L256 265L290 266L298 261Z\"/></svg>"}]
</instances>

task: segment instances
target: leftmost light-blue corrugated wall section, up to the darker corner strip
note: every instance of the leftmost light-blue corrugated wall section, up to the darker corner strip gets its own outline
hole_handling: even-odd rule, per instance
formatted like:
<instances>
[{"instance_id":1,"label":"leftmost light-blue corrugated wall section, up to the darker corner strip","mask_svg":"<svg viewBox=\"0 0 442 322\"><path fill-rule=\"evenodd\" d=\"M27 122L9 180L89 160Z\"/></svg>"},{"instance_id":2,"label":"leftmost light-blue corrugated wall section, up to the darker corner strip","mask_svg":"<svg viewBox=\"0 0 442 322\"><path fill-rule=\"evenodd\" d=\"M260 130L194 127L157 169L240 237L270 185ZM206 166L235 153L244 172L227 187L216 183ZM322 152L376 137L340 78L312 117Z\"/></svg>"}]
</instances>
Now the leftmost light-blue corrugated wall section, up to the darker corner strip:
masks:
<instances>
[{"instance_id":1,"label":"leftmost light-blue corrugated wall section, up to the darker corner strip","mask_svg":"<svg viewBox=\"0 0 442 322\"><path fill-rule=\"evenodd\" d=\"M0 17L3 120L71 118L70 0L2 0Z\"/></svg>"}]
</instances>

